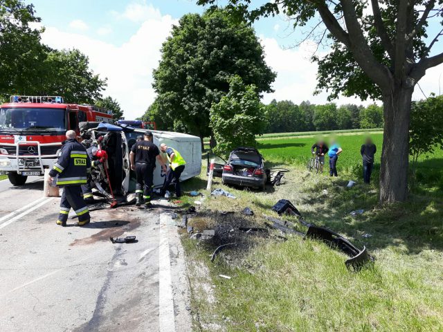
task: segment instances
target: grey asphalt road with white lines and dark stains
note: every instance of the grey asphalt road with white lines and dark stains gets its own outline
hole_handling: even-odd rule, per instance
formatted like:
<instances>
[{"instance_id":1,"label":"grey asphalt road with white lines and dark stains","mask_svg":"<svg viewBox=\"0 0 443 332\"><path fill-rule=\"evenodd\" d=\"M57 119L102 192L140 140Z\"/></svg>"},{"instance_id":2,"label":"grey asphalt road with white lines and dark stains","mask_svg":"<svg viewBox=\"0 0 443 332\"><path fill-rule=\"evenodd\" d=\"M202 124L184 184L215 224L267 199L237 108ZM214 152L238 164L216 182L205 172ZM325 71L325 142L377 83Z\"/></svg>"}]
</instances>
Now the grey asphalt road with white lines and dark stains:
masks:
<instances>
[{"instance_id":1,"label":"grey asphalt road with white lines and dark stains","mask_svg":"<svg viewBox=\"0 0 443 332\"><path fill-rule=\"evenodd\" d=\"M0 181L2 331L191 331L183 248L166 202L91 212L82 228L55 224L59 203L43 198L42 178ZM127 235L138 242L109 241Z\"/></svg>"}]
</instances>

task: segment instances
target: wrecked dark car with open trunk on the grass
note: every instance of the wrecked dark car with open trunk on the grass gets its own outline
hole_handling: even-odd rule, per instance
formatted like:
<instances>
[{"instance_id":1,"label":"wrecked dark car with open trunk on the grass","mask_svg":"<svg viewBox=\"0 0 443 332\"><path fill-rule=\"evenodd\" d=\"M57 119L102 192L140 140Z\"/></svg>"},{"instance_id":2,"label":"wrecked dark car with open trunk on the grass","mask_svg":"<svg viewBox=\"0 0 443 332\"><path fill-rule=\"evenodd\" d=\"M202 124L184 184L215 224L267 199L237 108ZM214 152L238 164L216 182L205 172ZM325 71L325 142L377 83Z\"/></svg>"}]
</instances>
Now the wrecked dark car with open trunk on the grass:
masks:
<instances>
[{"instance_id":1,"label":"wrecked dark car with open trunk on the grass","mask_svg":"<svg viewBox=\"0 0 443 332\"><path fill-rule=\"evenodd\" d=\"M213 175L221 176L224 184L262 190L264 190L267 178L263 157L253 147L237 147L231 151L224 165L220 162L215 163Z\"/></svg>"}]
</instances>

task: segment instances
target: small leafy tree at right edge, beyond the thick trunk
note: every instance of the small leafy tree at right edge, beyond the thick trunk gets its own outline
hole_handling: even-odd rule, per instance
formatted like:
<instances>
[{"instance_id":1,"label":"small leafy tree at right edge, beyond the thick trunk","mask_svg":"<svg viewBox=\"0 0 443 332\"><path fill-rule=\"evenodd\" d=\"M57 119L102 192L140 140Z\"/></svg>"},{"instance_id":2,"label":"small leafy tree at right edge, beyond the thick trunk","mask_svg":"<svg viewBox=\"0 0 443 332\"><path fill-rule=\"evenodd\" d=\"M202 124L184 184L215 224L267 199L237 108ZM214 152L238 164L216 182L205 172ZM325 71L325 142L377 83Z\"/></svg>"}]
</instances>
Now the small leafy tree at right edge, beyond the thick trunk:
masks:
<instances>
[{"instance_id":1,"label":"small leafy tree at right edge, beyond the thick trunk","mask_svg":"<svg viewBox=\"0 0 443 332\"><path fill-rule=\"evenodd\" d=\"M432 154L443 147L443 95L413 102L410 113L409 154L413 157L413 172L419 156Z\"/></svg>"}]
</instances>

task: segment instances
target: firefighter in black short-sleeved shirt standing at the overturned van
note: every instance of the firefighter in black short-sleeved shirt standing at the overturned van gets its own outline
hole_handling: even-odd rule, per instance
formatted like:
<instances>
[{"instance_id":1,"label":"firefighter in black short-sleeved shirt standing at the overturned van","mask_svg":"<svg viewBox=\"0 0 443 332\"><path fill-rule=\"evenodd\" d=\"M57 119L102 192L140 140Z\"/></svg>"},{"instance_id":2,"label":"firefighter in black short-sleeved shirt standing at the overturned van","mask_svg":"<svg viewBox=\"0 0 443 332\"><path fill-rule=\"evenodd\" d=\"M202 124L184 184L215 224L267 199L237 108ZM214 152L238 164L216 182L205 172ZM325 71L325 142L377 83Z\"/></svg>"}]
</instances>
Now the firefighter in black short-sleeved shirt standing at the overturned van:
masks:
<instances>
[{"instance_id":1,"label":"firefighter in black short-sleeved shirt standing at the overturned van","mask_svg":"<svg viewBox=\"0 0 443 332\"><path fill-rule=\"evenodd\" d=\"M137 185L136 185L136 206L140 206L143 200L147 208L151 207L152 186L154 180L155 160L159 160L162 169L166 170L166 165L160 156L159 147L153 142L151 131L146 131L144 139L136 142L131 147L131 169L136 171Z\"/></svg>"}]
</instances>

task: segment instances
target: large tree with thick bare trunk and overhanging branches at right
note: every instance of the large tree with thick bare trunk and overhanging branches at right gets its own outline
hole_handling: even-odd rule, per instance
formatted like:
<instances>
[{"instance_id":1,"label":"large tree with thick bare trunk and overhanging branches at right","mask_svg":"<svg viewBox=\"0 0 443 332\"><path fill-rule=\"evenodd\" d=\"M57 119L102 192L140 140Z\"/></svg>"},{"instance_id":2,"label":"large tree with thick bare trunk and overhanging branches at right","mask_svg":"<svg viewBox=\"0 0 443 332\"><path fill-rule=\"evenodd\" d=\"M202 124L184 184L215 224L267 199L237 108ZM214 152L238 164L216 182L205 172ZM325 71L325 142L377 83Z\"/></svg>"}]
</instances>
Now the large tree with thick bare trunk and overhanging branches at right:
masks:
<instances>
[{"instance_id":1,"label":"large tree with thick bare trunk and overhanging branches at right","mask_svg":"<svg viewBox=\"0 0 443 332\"><path fill-rule=\"evenodd\" d=\"M199 4L217 3L198 0ZM228 0L234 17L287 15L294 26L314 30L308 36L329 39L332 51L318 62L318 89L383 101L384 131L381 153L381 202L404 201L408 192L408 152L411 100L426 70L443 63L433 53L442 35L442 0L269 1ZM430 24L434 20L434 24ZM435 28L433 28L435 27ZM315 38L315 37L314 37ZM441 52L441 50L440 50Z\"/></svg>"}]
</instances>

